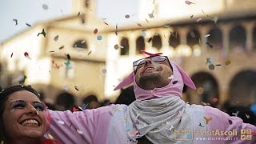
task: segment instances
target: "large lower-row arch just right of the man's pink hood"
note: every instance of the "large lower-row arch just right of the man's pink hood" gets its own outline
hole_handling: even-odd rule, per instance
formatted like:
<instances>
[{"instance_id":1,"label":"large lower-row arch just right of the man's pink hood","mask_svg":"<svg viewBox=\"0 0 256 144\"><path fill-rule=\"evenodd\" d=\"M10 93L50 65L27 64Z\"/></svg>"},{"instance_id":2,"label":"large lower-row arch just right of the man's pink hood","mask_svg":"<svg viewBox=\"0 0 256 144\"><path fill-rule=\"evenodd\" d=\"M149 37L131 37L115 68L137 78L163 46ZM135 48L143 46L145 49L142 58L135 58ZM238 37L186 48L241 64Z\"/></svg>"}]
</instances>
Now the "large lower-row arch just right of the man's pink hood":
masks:
<instances>
[{"instance_id":1,"label":"large lower-row arch just right of the man's pink hood","mask_svg":"<svg viewBox=\"0 0 256 144\"><path fill-rule=\"evenodd\" d=\"M193 74L191 79L193 80L197 90L188 90L189 101L191 103L203 104L208 103L210 106L218 105L219 88L218 82L211 74L207 72L198 72ZM197 100L193 100L197 99Z\"/></svg>"}]
</instances>

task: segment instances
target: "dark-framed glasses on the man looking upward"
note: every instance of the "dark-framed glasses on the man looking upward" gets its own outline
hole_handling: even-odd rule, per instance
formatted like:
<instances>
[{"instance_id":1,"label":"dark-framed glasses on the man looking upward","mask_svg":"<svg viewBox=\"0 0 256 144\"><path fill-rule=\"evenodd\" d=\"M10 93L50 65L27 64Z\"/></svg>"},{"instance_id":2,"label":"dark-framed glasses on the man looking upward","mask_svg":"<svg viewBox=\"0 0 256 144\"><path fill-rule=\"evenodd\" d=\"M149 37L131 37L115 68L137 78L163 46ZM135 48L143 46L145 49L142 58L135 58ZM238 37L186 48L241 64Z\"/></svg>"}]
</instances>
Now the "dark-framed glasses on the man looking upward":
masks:
<instances>
[{"instance_id":1,"label":"dark-framed glasses on the man looking upward","mask_svg":"<svg viewBox=\"0 0 256 144\"><path fill-rule=\"evenodd\" d=\"M134 74L136 74L137 70L140 69L146 63L146 59L150 59L152 62L164 62L166 60L169 62L169 59L166 56L160 56L160 55L139 59L133 62Z\"/></svg>"}]
</instances>

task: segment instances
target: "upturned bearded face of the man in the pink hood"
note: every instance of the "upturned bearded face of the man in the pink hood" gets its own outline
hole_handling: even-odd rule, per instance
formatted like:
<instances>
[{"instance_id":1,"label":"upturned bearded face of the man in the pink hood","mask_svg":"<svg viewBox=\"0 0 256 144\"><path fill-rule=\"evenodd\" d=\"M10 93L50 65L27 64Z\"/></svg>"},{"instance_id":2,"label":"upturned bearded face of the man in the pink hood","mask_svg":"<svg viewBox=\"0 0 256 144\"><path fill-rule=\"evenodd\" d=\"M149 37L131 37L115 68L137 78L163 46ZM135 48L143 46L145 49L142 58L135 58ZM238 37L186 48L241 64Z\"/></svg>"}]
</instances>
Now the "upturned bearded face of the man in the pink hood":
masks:
<instances>
[{"instance_id":1,"label":"upturned bearded face of the man in the pink hood","mask_svg":"<svg viewBox=\"0 0 256 144\"><path fill-rule=\"evenodd\" d=\"M135 70L135 81L144 90L153 90L156 87L167 86L169 77L173 74L167 58L157 62L154 58L146 58L145 63Z\"/></svg>"}]
</instances>

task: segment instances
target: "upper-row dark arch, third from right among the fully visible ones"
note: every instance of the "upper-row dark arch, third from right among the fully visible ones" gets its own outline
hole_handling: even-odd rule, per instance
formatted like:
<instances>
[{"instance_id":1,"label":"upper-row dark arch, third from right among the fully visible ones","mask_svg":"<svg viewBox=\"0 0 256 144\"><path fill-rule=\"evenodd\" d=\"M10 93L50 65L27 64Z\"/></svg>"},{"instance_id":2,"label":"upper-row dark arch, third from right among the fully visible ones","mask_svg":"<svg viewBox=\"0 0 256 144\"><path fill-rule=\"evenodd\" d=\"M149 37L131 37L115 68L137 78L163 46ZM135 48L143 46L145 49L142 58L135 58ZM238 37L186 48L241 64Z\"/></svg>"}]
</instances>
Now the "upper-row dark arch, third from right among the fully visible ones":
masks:
<instances>
[{"instance_id":1,"label":"upper-row dark arch, third from right among the fully visible ones","mask_svg":"<svg viewBox=\"0 0 256 144\"><path fill-rule=\"evenodd\" d=\"M195 45L199 45L200 34L198 30L190 30L190 32L186 35L186 44L191 48Z\"/></svg>"}]
</instances>

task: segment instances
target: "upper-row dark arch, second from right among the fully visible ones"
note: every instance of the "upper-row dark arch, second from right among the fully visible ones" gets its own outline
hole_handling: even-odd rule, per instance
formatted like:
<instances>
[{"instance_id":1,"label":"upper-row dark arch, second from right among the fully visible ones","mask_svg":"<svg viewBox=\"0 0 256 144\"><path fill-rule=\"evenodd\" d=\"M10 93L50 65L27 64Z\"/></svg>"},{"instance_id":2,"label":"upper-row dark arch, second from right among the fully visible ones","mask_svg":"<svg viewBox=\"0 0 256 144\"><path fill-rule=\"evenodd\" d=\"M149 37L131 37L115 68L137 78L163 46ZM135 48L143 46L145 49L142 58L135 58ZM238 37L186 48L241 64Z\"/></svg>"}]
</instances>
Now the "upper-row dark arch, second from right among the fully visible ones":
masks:
<instances>
[{"instance_id":1,"label":"upper-row dark arch, second from right among the fully visible ones","mask_svg":"<svg viewBox=\"0 0 256 144\"><path fill-rule=\"evenodd\" d=\"M214 46L214 50L221 50L223 46L222 30L218 27L214 27L207 34L210 34L210 37L207 38L207 42Z\"/></svg>"}]
</instances>

